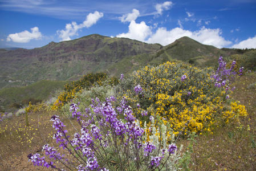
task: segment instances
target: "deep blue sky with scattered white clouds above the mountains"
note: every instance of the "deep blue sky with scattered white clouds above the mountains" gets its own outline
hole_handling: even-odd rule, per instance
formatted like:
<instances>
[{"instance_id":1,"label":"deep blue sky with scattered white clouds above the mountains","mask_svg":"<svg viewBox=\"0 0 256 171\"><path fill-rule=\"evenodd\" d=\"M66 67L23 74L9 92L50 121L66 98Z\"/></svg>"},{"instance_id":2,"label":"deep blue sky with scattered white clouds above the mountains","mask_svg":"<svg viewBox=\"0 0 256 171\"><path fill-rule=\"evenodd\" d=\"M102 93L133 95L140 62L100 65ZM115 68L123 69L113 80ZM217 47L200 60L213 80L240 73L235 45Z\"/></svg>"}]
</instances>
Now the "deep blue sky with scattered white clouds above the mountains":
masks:
<instances>
[{"instance_id":1,"label":"deep blue sky with scattered white clouds above the mountains","mask_svg":"<svg viewBox=\"0 0 256 171\"><path fill-rule=\"evenodd\" d=\"M182 36L256 48L256 0L0 0L0 47L42 47L90 34L167 45Z\"/></svg>"}]
</instances>

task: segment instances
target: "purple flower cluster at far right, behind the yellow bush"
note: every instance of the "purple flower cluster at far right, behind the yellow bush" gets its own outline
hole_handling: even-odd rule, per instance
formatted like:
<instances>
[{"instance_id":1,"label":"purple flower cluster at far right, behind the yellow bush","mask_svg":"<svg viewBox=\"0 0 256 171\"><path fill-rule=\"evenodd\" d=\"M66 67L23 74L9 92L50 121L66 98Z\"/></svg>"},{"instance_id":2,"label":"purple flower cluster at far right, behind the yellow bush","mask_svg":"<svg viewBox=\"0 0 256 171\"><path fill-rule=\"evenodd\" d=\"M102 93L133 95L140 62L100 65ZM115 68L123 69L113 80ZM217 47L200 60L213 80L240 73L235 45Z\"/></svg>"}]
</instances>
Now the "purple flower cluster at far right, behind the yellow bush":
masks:
<instances>
[{"instance_id":1,"label":"purple flower cluster at far right, behind the yellow bush","mask_svg":"<svg viewBox=\"0 0 256 171\"><path fill-rule=\"evenodd\" d=\"M233 83L234 81L234 77L235 75L237 75L237 72L234 71L235 68L235 60L231 63L231 67L229 69L226 68L226 62L224 61L224 59L222 58L222 56L220 56L219 60L219 67L216 70L215 74L212 76L215 80L215 87L218 88L225 88L225 91L233 91L233 88L231 88L231 83ZM243 67L241 67L239 69L239 73L238 75L242 75L243 72Z\"/></svg>"}]
</instances>

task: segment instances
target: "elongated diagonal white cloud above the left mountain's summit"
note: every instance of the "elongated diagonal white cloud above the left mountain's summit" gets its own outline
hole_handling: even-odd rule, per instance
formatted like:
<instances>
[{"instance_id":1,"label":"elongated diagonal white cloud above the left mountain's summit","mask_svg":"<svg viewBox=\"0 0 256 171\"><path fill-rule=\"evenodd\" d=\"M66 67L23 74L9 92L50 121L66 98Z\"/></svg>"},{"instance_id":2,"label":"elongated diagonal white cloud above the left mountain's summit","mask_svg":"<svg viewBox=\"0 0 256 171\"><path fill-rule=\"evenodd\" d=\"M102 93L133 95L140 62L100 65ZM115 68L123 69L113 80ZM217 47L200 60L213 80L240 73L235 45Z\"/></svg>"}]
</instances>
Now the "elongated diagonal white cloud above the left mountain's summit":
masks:
<instances>
[{"instance_id":1,"label":"elongated diagonal white cloud above the left mountain's summit","mask_svg":"<svg viewBox=\"0 0 256 171\"><path fill-rule=\"evenodd\" d=\"M86 20L78 25L76 22L66 24L64 30L58 30L59 38L62 41L71 40L70 36L78 35L78 30L86 27L91 27L94 25L101 17L103 17L103 13L99 13L95 11L94 13L90 13L87 15Z\"/></svg>"}]
</instances>

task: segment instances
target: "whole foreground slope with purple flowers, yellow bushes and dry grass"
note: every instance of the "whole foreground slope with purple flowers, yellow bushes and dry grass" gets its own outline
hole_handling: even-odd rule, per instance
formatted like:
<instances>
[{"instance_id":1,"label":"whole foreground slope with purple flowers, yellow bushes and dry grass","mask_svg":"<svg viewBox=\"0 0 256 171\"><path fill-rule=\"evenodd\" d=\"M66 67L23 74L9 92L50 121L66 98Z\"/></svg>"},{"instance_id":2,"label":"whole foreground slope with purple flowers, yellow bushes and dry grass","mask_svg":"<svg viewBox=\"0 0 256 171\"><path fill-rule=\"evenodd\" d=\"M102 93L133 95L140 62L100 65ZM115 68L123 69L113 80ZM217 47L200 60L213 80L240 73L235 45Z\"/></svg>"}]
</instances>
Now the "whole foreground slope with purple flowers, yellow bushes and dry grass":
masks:
<instances>
[{"instance_id":1,"label":"whole foreground slope with purple flowers, yellow bushes and dry grass","mask_svg":"<svg viewBox=\"0 0 256 171\"><path fill-rule=\"evenodd\" d=\"M164 170L255 170L255 72L245 69L241 74L238 61L231 65L221 58L218 61L217 71L168 61L141 67L120 79L103 73L87 74L66 84L55 104L30 104L27 115L2 120L2 169L43 169L27 163L31 153L29 158L35 165L65 168L60 164L64 162L74 170L78 166L157 170L165 164ZM237 72L234 83L229 68ZM221 85L216 74L225 81ZM226 86L237 88L231 91ZM68 139L73 145L65 146L66 136L58 135L71 136ZM91 139L75 139L80 135ZM103 140L107 143L102 147ZM84 145L93 153L85 152ZM49 150L55 157L64 154L67 160L59 158L60 162L50 164L49 158L40 158ZM40 160L31 160L32 156ZM86 164L89 161L93 164Z\"/></svg>"}]
</instances>

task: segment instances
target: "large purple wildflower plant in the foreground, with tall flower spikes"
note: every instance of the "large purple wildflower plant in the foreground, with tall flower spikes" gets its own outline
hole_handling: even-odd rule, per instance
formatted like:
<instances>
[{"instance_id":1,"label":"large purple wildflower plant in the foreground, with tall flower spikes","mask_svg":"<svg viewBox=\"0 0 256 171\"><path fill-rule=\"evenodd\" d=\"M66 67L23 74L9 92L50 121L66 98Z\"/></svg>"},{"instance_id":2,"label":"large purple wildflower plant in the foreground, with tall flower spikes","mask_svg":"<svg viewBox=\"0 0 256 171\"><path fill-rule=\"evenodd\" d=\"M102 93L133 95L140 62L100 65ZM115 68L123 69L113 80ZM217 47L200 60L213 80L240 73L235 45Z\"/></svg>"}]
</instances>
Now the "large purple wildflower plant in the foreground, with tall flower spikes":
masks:
<instances>
[{"instance_id":1,"label":"large purple wildflower plant in the foreground, with tall flower spikes","mask_svg":"<svg viewBox=\"0 0 256 171\"><path fill-rule=\"evenodd\" d=\"M156 150L156 146L150 142L143 143L144 129L136 124L136 117L133 116L132 108L126 104L125 97L120 101L119 106L115 107L115 97L111 96L105 99L104 103L96 98L92 99L90 108L86 109L84 115L78 112L78 105L71 104L70 111L72 117L76 119L80 125L80 132L76 132L74 137L70 139L67 135L66 127L59 116L52 116L52 127L56 133L53 138L56 143L74 157L74 160L68 160L64 154L60 154L57 150L48 144L43 146L43 151L50 162L46 158L40 157L39 154L29 154L29 161L34 165L46 166L61 170L53 161L58 161L58 166L63 165L69 170L108 170L103 166L107 157L107 151L113 150L113 154L119 157L119 168L124 170L129 161L134 161L137 169L141 165L148 165L148 168L158 168L164 158L165 149ZM117 115L119 113L119 115ZM123 115L124 119L119 119ZM143 111L141 115L146 116L147 111ZM174 153L177 146L170 145L168 150L169 156ZM162 156L158 157L162 152ZM122 160L120 156L124 156ZM168 157L169 158L169 157ZM167 158L167 159L168 159ZM166 160L167 160L166 159ZM75 161L75 162L74 162ZM111 167L110 167L111 168Z\"/></svg>"}]
</instances>

